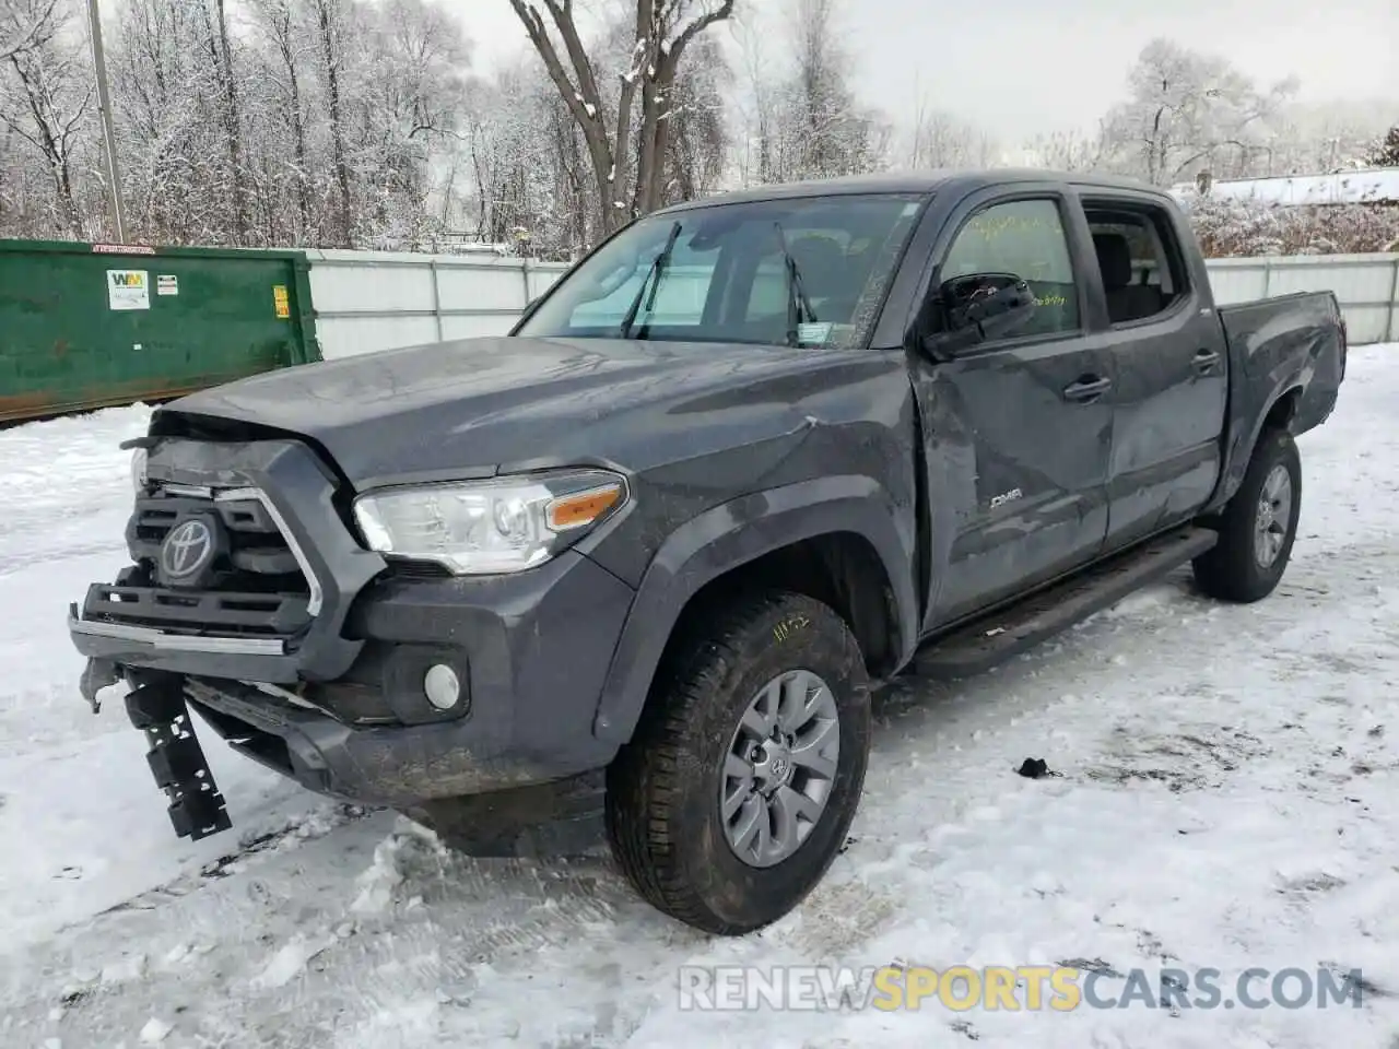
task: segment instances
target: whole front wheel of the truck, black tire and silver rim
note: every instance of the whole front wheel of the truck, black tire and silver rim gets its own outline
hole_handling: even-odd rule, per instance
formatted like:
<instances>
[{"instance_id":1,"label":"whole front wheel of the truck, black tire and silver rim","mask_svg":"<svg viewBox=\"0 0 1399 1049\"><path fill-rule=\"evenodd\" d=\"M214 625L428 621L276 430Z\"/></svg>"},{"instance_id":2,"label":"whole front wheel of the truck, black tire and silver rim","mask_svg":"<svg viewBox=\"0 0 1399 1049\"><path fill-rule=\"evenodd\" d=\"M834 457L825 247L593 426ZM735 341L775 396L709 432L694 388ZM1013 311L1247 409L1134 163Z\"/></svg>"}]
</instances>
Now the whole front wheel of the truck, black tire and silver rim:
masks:
<instances>
[{"instance_id":1,"label":"whole front wheel of the truck, black tire and silver rim","mask_svg":"<svg viewBox=\"0 0 1399 1049\"><path fill-rule=\"evenodd\" d=\"M795 908L845 843L869 677L844 620L803 594L740 600L677 643L607 771L607 832L652 905L737 936Z\"/></svg>"}]
</instances>

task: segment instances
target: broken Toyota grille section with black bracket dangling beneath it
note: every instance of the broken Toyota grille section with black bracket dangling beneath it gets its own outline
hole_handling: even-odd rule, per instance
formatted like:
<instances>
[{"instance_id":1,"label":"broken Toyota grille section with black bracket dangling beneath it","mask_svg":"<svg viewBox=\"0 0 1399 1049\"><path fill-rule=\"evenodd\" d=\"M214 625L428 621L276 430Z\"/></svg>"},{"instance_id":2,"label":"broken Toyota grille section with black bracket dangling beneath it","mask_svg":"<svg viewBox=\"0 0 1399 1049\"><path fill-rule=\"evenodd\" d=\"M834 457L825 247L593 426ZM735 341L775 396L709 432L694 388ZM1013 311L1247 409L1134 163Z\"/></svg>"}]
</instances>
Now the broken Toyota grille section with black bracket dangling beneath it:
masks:
<instances>
[{"instance_id":1,"label":"broken Toyota grille section with black bracket dangling beneath it","mask_svg":"<svg viewBox=\"0 0 1399 1049\"><path fill-rule=\"evenodd\" d=\"M333 680L358 656L350 601L383 566L334 511L336 477L304 443L148 436L133 467L132 564L69 610L83 698L126 684L126 711L175 832L231 821L194 734L192 677ZM309 551L309 552L308 552Z\"/></svg>"}]
</instances>

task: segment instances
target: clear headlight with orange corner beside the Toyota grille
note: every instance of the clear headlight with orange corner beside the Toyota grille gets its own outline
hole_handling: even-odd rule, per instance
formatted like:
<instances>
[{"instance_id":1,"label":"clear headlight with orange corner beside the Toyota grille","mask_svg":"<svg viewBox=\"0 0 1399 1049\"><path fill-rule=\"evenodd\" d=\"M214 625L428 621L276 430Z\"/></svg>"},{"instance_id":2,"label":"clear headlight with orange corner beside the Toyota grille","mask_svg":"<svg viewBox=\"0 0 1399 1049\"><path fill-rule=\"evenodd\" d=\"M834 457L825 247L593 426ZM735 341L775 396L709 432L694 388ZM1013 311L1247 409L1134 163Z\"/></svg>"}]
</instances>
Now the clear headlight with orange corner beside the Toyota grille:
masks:
<instances>
[{"instance_id":1,"label":"clear headlight with orange corner beside the Toyota grille","mask_svg":"<svg viewBox=\"0 0 1399 1049\"><path fill-rule=\"evenodd\" d=\"M548 561L627 498L618 474L569 470L386 490L355 499L354 518L369 550L494 575Z\"/></svg>"}]
</instances>

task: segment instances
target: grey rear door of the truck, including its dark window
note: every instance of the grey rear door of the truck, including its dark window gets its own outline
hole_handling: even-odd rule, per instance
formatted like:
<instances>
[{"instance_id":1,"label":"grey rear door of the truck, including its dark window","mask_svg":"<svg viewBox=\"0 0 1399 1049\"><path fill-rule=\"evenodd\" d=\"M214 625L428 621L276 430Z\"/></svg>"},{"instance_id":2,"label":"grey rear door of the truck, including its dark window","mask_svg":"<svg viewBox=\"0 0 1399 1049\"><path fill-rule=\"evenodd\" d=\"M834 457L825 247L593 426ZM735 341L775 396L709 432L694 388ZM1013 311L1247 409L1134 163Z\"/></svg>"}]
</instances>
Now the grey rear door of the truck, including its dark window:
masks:
<instances>
[{"instance_id":1,"label":"grey rear door of the truck, including its dark window","mask_svg":"<svg viewBox=\"0 0 1399 1049\"><path fill-rule=\"evenodd\" d=\"M1186 520L1220 469L1224 338L1192 284L1178 211L1147 193L1083 190L1094 327L1114 358L1108 548Z\"/></svg>"}]
</instances>

